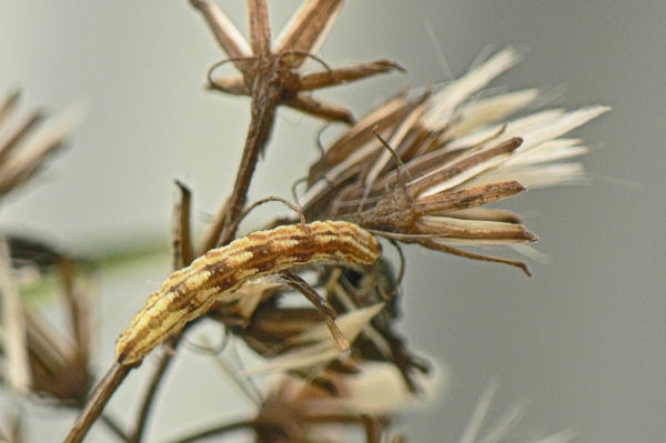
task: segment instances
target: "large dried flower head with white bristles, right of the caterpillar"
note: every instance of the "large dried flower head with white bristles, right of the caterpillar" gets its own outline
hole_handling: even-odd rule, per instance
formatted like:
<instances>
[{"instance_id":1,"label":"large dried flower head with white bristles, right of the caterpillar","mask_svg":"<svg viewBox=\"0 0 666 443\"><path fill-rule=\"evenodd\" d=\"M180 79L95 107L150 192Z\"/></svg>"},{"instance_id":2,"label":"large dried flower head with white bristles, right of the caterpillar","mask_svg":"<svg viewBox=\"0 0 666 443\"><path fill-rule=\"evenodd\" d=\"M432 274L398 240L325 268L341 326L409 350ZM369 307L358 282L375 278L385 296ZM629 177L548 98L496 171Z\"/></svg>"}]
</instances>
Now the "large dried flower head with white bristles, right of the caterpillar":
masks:
<instances>
[{"instance_id":1,"label":"large dried flower head with white bristles, right of the caterpillar","mask_svg":"<svg viewBox=\"0 0 666 443\"><path fill-rule=\"evenodd\" d=\"M310 169L305 214L353 221L387 239L528 273L523 262L458 246L535 241L513 212L483 207L526 187L579 180L582 165L567 160L587 148L561 137L608 108L508 120L538 91L474 98L517 60L515 50L505 49L436 93L402 94L372 111Z\"/></svg>"}]
</instances>

